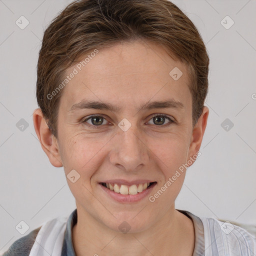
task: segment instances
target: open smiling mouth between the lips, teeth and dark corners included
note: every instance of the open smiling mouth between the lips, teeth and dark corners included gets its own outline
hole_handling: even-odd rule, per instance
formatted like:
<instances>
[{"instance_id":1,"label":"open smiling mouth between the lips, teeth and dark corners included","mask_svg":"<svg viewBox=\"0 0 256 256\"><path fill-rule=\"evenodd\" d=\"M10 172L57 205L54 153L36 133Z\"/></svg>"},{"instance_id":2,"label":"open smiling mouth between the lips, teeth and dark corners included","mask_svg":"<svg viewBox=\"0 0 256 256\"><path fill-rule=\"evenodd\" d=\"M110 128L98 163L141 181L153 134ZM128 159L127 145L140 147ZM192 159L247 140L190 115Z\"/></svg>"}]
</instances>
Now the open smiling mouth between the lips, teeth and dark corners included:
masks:
<instances>
[{"instance_id":1,"label":"open smiling mouth between the lips, teeth and dark corners included","mask_svg":"<svg viewBox=\"0 0 256 256\"><path fill-rule=\"evenodd\" d=\"M126 185L121 183L108 183L108 182L100 182L99 184L115 193L119 193L122 195L125 195L125 194L134 195L137 193L141 193L146 189L151 188L156 184L156 181L142 182L142 183L131 184L131 185Z\"/></svg>"}]
</instances>

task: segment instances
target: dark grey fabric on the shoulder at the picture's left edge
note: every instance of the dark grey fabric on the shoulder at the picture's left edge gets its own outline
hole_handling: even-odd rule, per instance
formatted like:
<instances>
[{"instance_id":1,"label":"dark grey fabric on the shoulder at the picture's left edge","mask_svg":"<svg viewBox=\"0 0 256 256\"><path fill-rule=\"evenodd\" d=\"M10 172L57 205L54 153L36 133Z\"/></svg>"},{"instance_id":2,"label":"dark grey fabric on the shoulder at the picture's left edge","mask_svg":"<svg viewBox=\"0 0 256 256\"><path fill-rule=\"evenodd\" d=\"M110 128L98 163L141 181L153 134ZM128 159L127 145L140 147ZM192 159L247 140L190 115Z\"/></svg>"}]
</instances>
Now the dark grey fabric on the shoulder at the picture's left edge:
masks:
<instances>
[{"instance_id":1,"label":"dark grey fabric on the shoulder at the picture's left edge","mask_svg":"<svg viewBox=\"0 0 256 256\"><path fill-rule=\"evenodd\" d=\"M3 253L2 256L26 256L29 255L30 250L33 246L35 241L35 237L40 230L41 226L37 227L36 229L32 230L25 236L20 237L16 241L14 241L7 251Z\"/></svg>"}]
</instances>

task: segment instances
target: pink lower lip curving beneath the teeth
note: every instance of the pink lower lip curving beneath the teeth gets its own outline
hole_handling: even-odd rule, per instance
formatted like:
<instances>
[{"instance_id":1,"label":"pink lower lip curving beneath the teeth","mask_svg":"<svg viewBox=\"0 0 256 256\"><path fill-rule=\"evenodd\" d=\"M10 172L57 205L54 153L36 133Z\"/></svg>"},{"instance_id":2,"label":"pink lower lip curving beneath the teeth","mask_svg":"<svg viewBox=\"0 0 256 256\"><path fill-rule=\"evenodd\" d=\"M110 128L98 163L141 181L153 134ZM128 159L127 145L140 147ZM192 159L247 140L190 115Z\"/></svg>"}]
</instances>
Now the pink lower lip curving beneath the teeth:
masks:
<instances>
[{"instance_id":1,"label":"pink lower lip curving beneath the teeth","mask_svg":"<svg viewBox=\"0 0 256 256\"><path fill-rule=\"evenodd\" d=\"M138 202L138 201L142 200L151 192L152 188L155 185L156 185L156 183L153 183L152 185L150 185L148 188L146 188L145 190L143 190L140 193L120 194L120 193L116 193L116 192L106 188L105 186L99 184L99 186L107 193L107 195L109 195L110 197L112 197L114 200L116 200L118 202L124 202L124 203L132 203L132 202Z\"/></svg>"}]
</instances>

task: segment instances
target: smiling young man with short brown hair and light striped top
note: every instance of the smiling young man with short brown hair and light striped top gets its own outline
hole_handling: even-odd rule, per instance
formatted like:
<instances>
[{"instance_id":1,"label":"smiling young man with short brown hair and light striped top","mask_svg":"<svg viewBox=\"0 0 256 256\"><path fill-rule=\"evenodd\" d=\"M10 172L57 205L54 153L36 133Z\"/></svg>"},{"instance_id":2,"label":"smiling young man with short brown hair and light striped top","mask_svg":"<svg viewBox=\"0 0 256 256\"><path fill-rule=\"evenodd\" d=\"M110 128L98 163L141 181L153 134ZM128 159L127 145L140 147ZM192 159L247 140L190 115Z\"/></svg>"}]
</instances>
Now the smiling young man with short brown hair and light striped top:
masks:
<instances>
[{"instance_id":1,"label":"smiling young man with short brown hair and light striped top","mask_svg":"<svg viewBox=\"0 0 256 256\"><path fill-rule=\"evenodd\" d=\"M200 154L208 65L170 1L67 5L43 35L33 123L76 209L3 255L256 255L245 229L175 209Z\"/></svg>"}]
</instances>

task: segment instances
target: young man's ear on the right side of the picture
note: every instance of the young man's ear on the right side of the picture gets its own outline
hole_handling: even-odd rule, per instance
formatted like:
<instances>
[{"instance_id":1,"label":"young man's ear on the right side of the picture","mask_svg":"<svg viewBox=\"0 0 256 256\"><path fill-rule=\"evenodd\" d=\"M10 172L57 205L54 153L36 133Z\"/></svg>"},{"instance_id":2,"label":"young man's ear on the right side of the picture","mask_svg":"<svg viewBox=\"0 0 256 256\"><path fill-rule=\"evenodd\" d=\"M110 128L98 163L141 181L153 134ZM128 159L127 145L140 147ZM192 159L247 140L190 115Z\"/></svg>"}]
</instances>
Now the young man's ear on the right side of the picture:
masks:
<instances>
[{"instance_id":1,"label":"young man's ear on the right side of the picture","mask_svg":"<svg viewBox=\"0 0 256 256\"><path fill-rule=\"evenodd\" d=\"M189 162L188 159L196 155L197 154L196 152L198 152L200 149L202 137L207 124L208 114L209 114L209 108L207 106L203 106L202 113L192 130L190 145L188 149L187 162ZM190 160L190 162L191 164L188 164L189 166L192 165L194 161Z\"/></svg>"}]
</instances>

